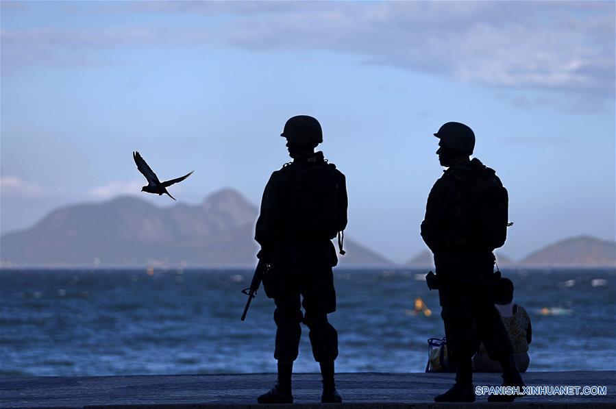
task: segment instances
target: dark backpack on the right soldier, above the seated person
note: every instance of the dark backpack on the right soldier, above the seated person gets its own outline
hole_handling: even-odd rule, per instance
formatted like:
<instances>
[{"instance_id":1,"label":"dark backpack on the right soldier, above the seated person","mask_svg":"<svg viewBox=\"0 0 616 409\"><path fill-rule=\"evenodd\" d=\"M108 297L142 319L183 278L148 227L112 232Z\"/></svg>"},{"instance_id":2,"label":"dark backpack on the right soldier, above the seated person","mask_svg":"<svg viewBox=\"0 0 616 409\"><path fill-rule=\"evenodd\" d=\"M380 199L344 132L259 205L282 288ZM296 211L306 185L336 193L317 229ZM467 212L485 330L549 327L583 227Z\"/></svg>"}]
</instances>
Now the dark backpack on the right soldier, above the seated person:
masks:
<instances>
[{"instance_id":1,"label":"dark backpack on the right soldier, above the seated person","mask_svg":"<svg viewBox=\"0 0 616 409\"><path fill-rule=\"evenodd\" d=\"M459 179L462 193L457 213L467 243L491 250L502 247L507 238L509 196L493 169L484 168L474 177Z\"/></svg>"}]
</instances>

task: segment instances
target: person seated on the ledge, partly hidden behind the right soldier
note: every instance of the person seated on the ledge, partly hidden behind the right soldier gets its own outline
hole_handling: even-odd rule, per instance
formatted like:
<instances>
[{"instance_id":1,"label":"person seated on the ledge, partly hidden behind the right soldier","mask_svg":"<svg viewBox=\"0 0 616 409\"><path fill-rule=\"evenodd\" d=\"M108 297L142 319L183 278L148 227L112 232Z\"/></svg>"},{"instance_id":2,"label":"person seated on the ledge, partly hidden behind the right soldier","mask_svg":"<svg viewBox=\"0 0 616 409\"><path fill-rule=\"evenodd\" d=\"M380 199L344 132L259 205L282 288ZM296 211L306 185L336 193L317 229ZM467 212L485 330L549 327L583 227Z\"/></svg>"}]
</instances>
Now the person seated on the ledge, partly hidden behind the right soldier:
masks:
<instances>
[{"instance_id":1,"label":"person seated on the ledge, partly hidden behind the right soldier","mask_svg":"<svg viewBox=\"0 0 616 409\"><path fill-rule=\"evenodd\" d=\"M528 344L532 340L532 327L530 317L522 306L513 303L513 282L508 278L497 281L495 286L494 306L507 329L511 345L513 345L513 358L520 372L526 372L530 357ZM498 361L491 360L483 343L473 356L473 371L475 372L502 372Z\"/></svg>"}]
</instances>

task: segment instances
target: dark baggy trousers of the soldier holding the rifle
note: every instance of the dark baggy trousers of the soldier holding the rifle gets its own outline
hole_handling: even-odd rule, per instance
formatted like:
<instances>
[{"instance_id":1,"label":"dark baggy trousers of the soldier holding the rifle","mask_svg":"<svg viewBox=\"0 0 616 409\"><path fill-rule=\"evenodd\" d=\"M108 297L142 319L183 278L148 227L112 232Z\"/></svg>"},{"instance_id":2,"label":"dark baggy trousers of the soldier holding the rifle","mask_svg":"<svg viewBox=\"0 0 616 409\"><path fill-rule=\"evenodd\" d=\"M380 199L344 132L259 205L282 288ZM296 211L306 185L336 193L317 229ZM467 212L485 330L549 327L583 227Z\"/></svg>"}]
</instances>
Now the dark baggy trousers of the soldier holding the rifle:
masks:
<instances>
[{"instance_id":1,"label":"dark baggy trousers of the soldier holding the rifle","mask_svg":"<svg viewBox=\"0 0 616 409\"><path fill-rule=\"evenodd\" d=\"M278 326L274 358L277 360L297 358L302 322L310 330L312 355L317 362L333 361L338 356L338 332L328 321L328 313L336 309L331 274L330 269L325 275L295 275L285 280L284 290L274 298L274 321ZM304 297L301 302L300 297Z\"/></svg>"}]
</instances>

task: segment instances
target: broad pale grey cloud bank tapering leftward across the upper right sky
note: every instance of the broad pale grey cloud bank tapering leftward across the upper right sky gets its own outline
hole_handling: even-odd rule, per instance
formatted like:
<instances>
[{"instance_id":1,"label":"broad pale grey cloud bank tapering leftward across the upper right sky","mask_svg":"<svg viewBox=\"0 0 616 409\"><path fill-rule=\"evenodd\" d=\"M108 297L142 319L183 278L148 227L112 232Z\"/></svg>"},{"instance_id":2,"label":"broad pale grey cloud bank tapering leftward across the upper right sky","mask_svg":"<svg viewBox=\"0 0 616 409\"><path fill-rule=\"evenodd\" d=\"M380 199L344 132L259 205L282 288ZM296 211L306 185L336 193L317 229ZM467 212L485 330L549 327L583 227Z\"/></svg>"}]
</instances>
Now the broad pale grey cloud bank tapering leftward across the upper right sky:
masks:
<instances>
[{"instance_id":1,"label":"broad pale grey cloud bank tapering leftward across the upper right sky","mask_svg":"<svg viewBox=\"0 0 616 409\"><path fill-rule=\"evenodd\" d=\"M336 3L257 17L228 36L256 49L324 49L502 88L614 97L614 5ZM597 9L597 10L595 10Z\"/></svg>"}]
</instances>

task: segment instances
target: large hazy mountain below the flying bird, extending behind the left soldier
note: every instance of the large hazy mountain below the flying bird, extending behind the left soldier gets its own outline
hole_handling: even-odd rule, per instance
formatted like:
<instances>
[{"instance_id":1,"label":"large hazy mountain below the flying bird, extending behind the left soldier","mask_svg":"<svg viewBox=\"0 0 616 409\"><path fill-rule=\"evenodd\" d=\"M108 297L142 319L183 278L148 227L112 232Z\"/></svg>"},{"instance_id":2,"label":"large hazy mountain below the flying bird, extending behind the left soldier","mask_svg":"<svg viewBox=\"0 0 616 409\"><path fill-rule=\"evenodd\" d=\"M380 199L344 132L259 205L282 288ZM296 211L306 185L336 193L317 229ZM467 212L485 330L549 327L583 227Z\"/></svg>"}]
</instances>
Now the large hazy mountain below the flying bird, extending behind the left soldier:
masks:
<instances>
[{"instance_id":1,"label":"large hazy mountain below the flying bird, extending behind the left soldier","mask_svg":"<svg viewBox=\"0 0 616 409\"><path fill-rule=\"evenodd\" d=\"M253 267L258 209L236 190L223 189L199 205L159 208L132 196L54 210L33 227L0 238L9 266ZM345 240L344 267L391 262Z\"/></svg>"}]
</instances>

